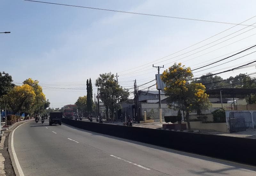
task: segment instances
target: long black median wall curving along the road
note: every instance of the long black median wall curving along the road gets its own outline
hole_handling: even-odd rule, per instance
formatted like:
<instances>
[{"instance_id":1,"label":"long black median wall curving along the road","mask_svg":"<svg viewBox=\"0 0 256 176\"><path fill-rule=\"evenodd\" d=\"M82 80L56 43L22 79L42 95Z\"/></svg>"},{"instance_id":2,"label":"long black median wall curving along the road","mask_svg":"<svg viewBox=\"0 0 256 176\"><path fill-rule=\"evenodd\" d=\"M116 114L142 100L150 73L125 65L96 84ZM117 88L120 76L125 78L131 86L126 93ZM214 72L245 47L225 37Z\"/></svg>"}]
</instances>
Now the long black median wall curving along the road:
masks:
<instances>
[{"instance_id":1,"label":"long black median wall curving along the road","mask_svg":"<svg viewBox=\"0 0 256 176\"><path fill-rule=\"evenodd\" d=\"M256 139L92 123L65 118L62 122L115 137L256 165Z\"/></svg>"}]
</instances>

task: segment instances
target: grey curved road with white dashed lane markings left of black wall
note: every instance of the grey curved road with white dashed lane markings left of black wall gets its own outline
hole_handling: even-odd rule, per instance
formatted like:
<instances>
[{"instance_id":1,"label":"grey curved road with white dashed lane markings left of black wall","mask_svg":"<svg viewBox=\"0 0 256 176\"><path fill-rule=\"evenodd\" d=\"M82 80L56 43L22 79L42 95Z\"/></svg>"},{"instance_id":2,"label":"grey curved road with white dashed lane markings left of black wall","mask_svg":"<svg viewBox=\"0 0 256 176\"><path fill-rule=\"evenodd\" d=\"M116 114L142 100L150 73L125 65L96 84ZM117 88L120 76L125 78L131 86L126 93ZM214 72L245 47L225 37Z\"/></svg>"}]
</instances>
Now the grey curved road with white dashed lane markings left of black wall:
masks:
<instances>
[{"instance_id":1,"label":"grey curved road with white dashed lane markings left of black wall","mask_svg":"<svg viewBox=\"0 0 256 176\"><path fill-rule=\"evenodd\" d=\"M253 166L102 135L63 123L49 126L48 120L44 125L35 121L22 124L13 137L25 176L256 175Z\"/></svg>"}]
</instances>

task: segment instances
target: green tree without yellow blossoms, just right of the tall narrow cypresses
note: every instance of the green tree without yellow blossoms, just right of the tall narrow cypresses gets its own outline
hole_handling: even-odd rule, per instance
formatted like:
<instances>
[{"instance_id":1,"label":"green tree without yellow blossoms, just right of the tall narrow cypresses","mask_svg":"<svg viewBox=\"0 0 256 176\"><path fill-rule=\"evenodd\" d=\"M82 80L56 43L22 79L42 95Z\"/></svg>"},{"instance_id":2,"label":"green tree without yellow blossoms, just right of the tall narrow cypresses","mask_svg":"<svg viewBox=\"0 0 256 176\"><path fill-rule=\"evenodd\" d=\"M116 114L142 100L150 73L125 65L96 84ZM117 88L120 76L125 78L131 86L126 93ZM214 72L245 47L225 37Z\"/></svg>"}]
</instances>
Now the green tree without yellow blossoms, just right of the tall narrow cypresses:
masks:
<instances>
[{"instance_id":1,"label":"green tree without yellow blossoms, just right of the tall narrow cypresses","mask_svg":"<svg viewBox=\"0 0 256 176\"><path fill-rule=\"evenodd\" d=\"M114 74L105 73L100 74L100 77L97 78L95 86L99 88L99 95L102 102L107 110L114 114L114 109L121 109L121 105L118 102L123 102L128 99L129 92L127 89L123 89L117 82L114 80Z\"/></svg>"}]
</instances>

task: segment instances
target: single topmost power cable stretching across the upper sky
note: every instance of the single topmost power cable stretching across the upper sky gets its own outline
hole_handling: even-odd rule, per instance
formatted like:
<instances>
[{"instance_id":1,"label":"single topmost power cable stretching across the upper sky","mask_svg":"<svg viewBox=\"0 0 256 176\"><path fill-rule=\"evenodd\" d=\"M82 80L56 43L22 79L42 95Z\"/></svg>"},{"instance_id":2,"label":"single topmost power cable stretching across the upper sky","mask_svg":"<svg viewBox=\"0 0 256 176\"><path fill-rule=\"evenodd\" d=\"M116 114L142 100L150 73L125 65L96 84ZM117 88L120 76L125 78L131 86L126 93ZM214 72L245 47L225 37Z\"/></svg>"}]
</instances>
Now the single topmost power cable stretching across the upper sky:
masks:
<instances>
[{"instance_id":1,"label":"single topmost power cable stretching across the upper sky","mask_svg":"<svg viewBox=\"0 0 256 176\"><path fill-rule=\"evenodd\" d=\"M43 1L32 1L32 0L24 0L24 1L31 1L31 2L45 3L45 4L64 5L64 6L70 6L70 7L79 7L79 8L86 8L86 9L93 9L93 10L101 10L101 11L112 11L112 12L120 12L120 13L129 13L129 14L135 14L135 15L146 15L146 16L154 16L154 17L163 17L163 18L186 19L186 20L203 21L203 22L212 22L212 23L221 23L221 24L228 24L228 25L250 26L250 25L245 25L245 24L236 24L236 23L228 23L228 22L221 22L221 21L203 20L203 19L195 19L195 18L182 18L182 17L173 17L173 16L156 15L156 14L148 14L148 13L138 13L138 12L129 12L129 11L117 11L117 10L101 9L101 8L86 7L86 6L79 6L79 5L49 3L49 2L43 2Z\"/></svg>"}]
</instances>

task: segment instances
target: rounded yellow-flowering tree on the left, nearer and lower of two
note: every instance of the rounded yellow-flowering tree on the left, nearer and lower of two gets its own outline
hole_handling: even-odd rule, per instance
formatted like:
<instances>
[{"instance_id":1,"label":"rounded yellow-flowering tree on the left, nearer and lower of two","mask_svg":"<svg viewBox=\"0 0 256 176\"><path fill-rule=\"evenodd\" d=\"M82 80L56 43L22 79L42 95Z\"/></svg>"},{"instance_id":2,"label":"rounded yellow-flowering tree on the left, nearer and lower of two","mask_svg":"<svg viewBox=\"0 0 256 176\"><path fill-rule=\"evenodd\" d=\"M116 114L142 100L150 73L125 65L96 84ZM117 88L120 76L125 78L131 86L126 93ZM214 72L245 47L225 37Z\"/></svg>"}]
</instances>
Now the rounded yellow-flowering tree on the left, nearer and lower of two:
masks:
<instances>
[{"instance_id":1,"label":"rounded yellow-flowering tree on the left, nearer and lower of two","mask_svg":"<svg viewBox=\"0 0 256 176\"><path fill-rule=\"evenodd\" d=\"M9 106L13 113L31 113L35 103L36 94L34 89L28 84L15 86L7 95Z\"/></svg>"}]
</instances>

